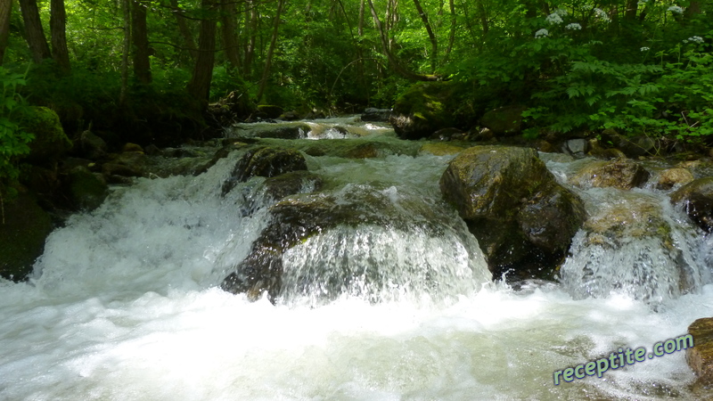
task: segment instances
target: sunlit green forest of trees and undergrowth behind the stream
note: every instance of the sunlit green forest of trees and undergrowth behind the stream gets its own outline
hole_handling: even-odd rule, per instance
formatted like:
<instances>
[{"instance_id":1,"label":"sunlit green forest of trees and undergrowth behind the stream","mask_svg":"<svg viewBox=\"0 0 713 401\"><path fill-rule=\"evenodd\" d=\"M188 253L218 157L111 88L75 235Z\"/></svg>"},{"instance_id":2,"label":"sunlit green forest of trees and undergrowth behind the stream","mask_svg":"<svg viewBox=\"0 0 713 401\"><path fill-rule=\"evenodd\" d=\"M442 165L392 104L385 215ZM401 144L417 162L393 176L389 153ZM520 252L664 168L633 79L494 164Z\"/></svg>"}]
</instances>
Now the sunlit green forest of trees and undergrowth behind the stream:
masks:
<instances>
[{"instance_id":1,"label":"sunlit green forest of trees and undergrowth behind the stream","mask_svg":"<svg viewBox=\"0 0 713 401\"><path fill-rule=\"evenodd\" d=\"M463 129L520 105L526 128L706 143L713 4L704 0L0 0L0 178L33 135L181 143L258 105L292 116L391 108L448 85ZM224 107L224 108L225 108ZM211 128L212 127L212 128Z\"/></svg>"}]
</instances>

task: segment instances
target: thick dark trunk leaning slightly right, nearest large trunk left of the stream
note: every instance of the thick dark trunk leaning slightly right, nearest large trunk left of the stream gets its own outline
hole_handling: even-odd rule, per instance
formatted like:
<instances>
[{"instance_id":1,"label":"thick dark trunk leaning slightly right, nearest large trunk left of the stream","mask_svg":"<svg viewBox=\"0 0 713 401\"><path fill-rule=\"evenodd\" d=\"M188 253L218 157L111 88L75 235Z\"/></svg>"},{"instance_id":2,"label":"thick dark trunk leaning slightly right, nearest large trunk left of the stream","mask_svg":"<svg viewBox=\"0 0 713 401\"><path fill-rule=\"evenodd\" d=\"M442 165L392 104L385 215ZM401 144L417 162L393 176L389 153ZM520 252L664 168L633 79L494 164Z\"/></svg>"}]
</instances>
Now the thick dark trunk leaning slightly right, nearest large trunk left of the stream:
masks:
<instances>
[{"instance_id":1,"label":"thick dark trunk leaning slightly right, nearest large trunk left of the stream","mask_svg":"<svg viewBox=\"0 0 713 401\"><path fill-rule=\"evenodd\" d=\"M214 0L202 0L203 10L215 11ZM188 93L194 98L208 102L210 81L213 79L213 64L216 59L216 19L201 20L201 33L198 37L198 58L195 60L193 77L188 82Z\"/></svg>"}]
</instances>

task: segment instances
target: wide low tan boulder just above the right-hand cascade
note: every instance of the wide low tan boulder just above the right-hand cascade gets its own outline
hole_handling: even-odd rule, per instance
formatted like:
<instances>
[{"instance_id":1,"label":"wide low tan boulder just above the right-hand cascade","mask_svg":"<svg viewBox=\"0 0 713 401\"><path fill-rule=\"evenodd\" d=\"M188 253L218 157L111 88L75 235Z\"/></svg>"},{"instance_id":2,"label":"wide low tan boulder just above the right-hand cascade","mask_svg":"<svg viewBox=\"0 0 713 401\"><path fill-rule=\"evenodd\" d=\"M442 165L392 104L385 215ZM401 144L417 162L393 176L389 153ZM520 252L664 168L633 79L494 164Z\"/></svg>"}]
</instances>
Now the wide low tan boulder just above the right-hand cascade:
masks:
<instances>
[{"instance_id":1,"label":"wide low tan boulder just above the right-hand cascade","mask_svg":"<svg viewBox=\"0 0 713 401\"><path fill-rule=\"evenodd\" d=\"M651 174L632 160L603 161L587 164L570 178L570 184L582 188L618 188L630 190L646 184Z\"/></svg>"}]
</instances>

